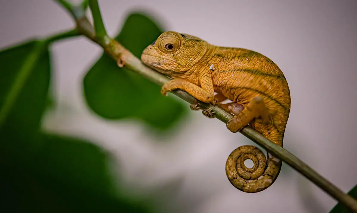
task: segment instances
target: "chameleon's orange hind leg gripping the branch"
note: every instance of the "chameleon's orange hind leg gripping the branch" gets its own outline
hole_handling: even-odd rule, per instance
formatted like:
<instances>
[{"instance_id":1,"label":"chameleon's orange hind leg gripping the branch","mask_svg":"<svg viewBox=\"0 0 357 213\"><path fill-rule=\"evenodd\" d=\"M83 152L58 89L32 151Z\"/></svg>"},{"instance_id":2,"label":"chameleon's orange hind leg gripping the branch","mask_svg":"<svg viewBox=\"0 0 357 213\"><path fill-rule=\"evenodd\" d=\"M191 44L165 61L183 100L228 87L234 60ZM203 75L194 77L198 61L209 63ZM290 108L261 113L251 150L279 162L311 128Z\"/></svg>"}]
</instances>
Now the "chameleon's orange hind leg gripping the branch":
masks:
<instances>
[{"instance_id":1,"label":"chameleon's orange hind leg gripping the branch","mask_svg":"<svg viewBox=\"0 0 357 213\"><path fill-rule=\"evenodd\" d=\"M238 132L255 118L261 118L263 123L269 121L268 110L261 97L252 98L240 113L227 122L227 128L231 132Z\"/></svg>"}]
</instances>

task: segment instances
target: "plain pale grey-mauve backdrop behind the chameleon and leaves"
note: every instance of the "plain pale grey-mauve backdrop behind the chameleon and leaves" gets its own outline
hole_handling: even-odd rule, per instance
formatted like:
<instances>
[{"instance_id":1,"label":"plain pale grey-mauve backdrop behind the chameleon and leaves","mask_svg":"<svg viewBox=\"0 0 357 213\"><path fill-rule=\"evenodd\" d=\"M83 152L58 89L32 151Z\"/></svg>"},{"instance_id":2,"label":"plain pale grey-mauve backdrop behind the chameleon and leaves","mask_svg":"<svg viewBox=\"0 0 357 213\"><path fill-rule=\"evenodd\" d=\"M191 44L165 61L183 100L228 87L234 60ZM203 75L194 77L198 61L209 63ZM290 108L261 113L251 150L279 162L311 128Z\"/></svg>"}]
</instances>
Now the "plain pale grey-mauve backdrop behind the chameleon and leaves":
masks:
<instances>
[{"instance_id":1,"label":"plain pale grey-mauve backdrop behind the chameleon and leaves","mask_svg":"<svg viewBox=\"0 0 357 213\"><path fill-rule=\"evenodd\" d=\"M343 191L355 186L355 0L100 0L99 4L112 36L130 11L140 9L157 17L167 30L270 57L284 72L291 91L284 147ZM62 8L49 0L2 0L0 19L1 48L73 26ZM263 192L235 189L225 174L226 159L236 147L252 142L201 112L191 112L166 138L156 138L140 122L102 120L90 112L82 96L82 78L101 49L78 38L58 42L51 50L57 106L47 113L43 127L89 138L113 153L114 174L120 167L124 177L118 184L124 183L127 193L159 196L154 202L164 205L163 212L328 212L336 204L286 165Z\"/></svg>"}]
</instances>

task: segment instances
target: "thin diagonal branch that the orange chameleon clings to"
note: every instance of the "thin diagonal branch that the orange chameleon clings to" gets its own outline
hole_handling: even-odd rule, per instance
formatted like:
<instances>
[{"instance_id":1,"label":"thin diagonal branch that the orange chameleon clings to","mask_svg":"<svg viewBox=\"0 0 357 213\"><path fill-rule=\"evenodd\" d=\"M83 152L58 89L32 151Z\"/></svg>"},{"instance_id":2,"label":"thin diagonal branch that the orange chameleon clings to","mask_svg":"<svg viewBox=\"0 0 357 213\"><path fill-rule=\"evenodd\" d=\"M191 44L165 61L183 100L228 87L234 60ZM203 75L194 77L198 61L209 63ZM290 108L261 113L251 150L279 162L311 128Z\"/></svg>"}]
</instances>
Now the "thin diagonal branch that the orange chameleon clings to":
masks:
<instances>
[{"instance_id":1,"label":"thin diagonal branch that the orange chameleon clings to","mask_svg":"<svg viewBox=\"0 0 357 213\"><path fill-rule=\"evenodd\" d=\"M92 3L92 5L91 5L91 3ZM97 10L94 13L92 11L93 16L97 17L97 19L96 19L97 21L101 20L99 7L97 7L98 6L97 1L89 0L89 4L90 4L91 9L94 8L95 10ZM94 14L96 14L96 15L94 15ZM100 19L98 17L100 17ZM109 37L107 37L106 34L104 37L107 37L108 42L101 42L103 37L96 36L99 34L98 34L98 32L95 33L95 30L93 29L93 27L91 26L91 24L87 18L82 17L80 19L75 19L75 21L77 24L77 29L83 35L85 35L86 37L88 37L89 39L94 41L96 44L100 45L104 49L104 51L117 62L118 66L120 66L120 67L125 66L127 69L130 69L131 71L149 79L150 81L152 81L154 83L157 83L158 85L163 85L164 83L170 81L170 78L168 78L167 76L164 76L161 73L156 72L155 70L152 70L149 67L142 64L142 62L137 57L135 57L130 51L125 49L125 47L122 46L116 40L110 39ZM101 26L104 29L103 24L97 23L96 31L98 31L98 26ZM104 31L101 32L100 35L103 36L104 32L105 32L105 29L104 29ZM215 117L224 123L227 123L233 117L231 113L228 113L227 111L223 110L221 107L213 106L211 104L198 101L196 98L192 97L185 91L174 90L171 93L175 94L176 96L182 98L183 100L185 100L189 103L192 103L192 104L197 103L198 106L200 106L202 108L210 108L211 111L214 112ZM294 156L293 154L288 152L286 149L284 149L284 148L276 145L272 141L268 140L266 137L264 137L262 134L255 131L250 126L244 127L240 131L240 133L243 134L244 136L250 138L253 142L257 143L261 147L265 148L269 153L282 159L282 161L287 163L289 166L294 168L296 171L300 172L303 176L308 178L311 182L315 183L323 191L330 194L330 196L335 198L338 202L343 203L345 206L347 206L354 212L357 212L357 201L355 199L353 199L350 195L343 193L341 191L341 189L337 188L331 182L327 181L327 179L322 177L315 170L313 170L310 166L308 166L306 163L301 161L299 158L297 158L296 156Z\"/></svg>"}]
</instances>

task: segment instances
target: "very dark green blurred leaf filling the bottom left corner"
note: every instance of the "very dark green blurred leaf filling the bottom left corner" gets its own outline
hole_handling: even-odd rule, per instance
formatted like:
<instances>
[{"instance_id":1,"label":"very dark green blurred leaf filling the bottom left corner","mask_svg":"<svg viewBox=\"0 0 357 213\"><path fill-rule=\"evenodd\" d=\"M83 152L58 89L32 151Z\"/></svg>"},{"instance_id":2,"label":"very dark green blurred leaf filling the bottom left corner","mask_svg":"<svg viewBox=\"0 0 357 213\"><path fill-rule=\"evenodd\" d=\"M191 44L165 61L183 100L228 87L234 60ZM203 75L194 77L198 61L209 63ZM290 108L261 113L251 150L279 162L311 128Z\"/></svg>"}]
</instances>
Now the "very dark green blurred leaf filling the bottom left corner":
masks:
<instances>
[{"instance_id":1,"label":"very dark green blurred leaf filling the bottom left corner","mask_svg":"<svg viewBox=\"0 0 357 213\"><path fill-rule=\"evenodd\" d=\"M0 208L11 208L11 212L149 212L141 203L116 196L108 154L99 147L55 135L42 135L41 140L45 145L31 161L0 161L4 193Z\"/></svg>"}]
</instances>

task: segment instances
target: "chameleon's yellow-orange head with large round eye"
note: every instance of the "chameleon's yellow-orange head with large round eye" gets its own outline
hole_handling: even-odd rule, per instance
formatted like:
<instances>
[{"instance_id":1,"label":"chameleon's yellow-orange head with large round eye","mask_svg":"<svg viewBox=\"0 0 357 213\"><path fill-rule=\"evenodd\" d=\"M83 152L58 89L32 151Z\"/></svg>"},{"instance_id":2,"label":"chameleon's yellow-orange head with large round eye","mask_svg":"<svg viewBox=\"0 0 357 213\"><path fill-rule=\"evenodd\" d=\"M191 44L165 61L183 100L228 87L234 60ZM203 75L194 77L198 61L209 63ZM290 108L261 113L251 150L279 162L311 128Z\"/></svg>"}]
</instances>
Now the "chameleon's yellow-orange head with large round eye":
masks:
<instances>
[{"instance_id":1,"label":"chameleon's yellow-orange head with large round eye","mask_svg":"<svg viewBox=\"0 0 357 213\"><path fill-rule=\"evenodd\" d=\"M209 44L202 39L167 31L142 52L141 61L165 75L190 70L207 52Z\"/></svg>"}]
</instances>

